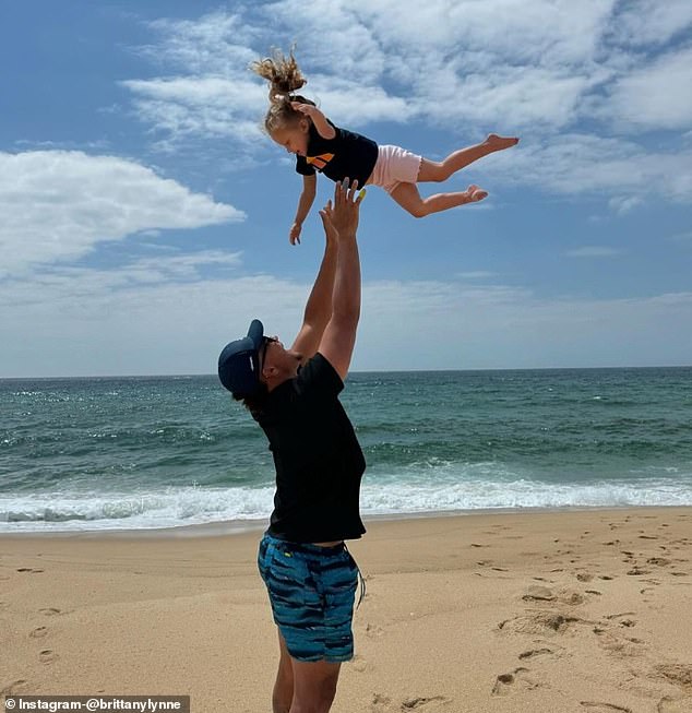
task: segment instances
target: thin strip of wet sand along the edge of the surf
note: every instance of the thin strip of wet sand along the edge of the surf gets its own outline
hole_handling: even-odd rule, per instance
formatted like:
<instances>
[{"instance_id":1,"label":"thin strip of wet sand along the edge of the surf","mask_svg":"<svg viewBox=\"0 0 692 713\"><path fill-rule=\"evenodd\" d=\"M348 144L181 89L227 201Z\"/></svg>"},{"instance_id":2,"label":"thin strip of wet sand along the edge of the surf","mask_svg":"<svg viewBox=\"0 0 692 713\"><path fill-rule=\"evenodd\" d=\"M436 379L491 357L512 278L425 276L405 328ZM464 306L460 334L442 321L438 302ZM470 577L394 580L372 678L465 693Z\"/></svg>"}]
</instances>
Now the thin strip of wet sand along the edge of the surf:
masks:
<instances>
[{"instance_id":1,"label":"thin strip of wet sand along the edge of the surf","mask_svg":"<svg viewBox=\"0 0 692 713\"><path fill-rule=\"evenodd\" d=\"M474 518L486 515L532 515L532 514L560 514L571 512L608 512L621 513L623 511L692 509L690 506L566 506L556 508L478 508L474 510L436 510L410 513L385 513L362 515L366 528L368 523L386 523L397 521L437 520L448 518ZM56 530L56 531L25 531L1 532L3 538L194 538L194 537L223 537L226 535L243 535L262 532L269 526L269 516L256 520L219 520L218 522L195 523L190 525L171 525L166 527L133 527L133 528L97 528L97 530ZM367 537L367 533L363 537Z\"/></svg>"}]
</instances>

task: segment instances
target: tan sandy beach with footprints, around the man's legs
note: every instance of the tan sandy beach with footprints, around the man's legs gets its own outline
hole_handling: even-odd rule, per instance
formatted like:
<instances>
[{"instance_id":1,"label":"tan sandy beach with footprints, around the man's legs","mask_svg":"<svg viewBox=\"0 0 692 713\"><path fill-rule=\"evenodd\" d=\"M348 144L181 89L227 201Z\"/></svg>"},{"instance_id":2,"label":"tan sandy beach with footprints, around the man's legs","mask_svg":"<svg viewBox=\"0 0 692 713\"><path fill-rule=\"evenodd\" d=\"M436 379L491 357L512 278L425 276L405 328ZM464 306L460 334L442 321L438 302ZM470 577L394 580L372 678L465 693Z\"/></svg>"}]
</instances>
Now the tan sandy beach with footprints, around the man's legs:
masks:
<instances>
[{"instance_id":1,"label":"tan sandy beach with footprints, around the man's legs","mask_svg":"<svg viewBox=\"0 0 692 713\"><path fill-rule=\"evenodd\" d=\"M692 509L367 526L335 713L692 711ZM271 711L260 532L199 532L1 537L2 693Z\"/></svg>"}]
</instances>

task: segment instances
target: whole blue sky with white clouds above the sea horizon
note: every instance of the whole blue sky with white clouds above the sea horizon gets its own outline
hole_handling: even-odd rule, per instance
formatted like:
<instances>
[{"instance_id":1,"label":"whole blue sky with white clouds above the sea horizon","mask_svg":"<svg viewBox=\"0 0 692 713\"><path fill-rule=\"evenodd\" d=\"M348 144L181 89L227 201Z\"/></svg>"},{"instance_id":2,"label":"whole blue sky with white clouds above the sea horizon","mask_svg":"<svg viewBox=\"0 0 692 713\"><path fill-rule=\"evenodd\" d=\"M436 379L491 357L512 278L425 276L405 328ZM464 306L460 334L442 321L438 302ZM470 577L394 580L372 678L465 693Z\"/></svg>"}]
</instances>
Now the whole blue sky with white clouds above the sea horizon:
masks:
<instances>
[{"instance_id":1,"label":"whole blue sky with white clouds above the sea horizon","mask_svg":"<svg viewBox=\"0 0 692 713\"><path fill-rule=\"evenodd\" d=\"M689 0L0 5L0 377L212 373L290 341L323 248L248 64L297 44L337 124L481 204L361 211L355 369L692 364ZM434 192L422 186L421 192Z\"/></svg>"}]
</instances>

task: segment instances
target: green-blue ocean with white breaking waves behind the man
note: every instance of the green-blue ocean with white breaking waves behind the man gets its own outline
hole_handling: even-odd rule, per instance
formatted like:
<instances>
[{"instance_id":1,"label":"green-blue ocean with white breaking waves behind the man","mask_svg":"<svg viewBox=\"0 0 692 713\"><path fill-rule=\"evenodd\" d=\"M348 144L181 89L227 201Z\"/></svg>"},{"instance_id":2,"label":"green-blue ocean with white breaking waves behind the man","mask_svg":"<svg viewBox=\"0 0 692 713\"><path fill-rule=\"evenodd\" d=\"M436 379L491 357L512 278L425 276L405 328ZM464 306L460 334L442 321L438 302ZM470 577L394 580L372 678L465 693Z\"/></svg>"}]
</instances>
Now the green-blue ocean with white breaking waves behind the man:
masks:
<instances>
[{"instance_id":1,"label":"green-blue ocean with white breaking waves behind the man","mask_svg":"<svg viewBox=\"0 0 692 713\"><path fill-rule=\"evenodd\" d=\"M342 401L365 516L692 506L692 367L359 372ZM264 435L215 376L4 379L0 414L0 533L272 510Z\"/></svg>"}]
</instances>

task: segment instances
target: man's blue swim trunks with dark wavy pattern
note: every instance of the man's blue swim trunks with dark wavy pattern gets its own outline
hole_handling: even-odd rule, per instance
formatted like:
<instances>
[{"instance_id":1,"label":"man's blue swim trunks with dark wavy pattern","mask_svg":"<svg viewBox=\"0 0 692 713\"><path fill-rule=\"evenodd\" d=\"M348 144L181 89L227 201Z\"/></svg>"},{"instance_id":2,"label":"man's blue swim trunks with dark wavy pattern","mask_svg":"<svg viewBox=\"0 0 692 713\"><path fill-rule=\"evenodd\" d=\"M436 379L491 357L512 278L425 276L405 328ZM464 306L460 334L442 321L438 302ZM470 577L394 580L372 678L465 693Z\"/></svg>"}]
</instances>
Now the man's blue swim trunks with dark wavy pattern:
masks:
<instances>
[{"instance_id":1,"label":"man's blue swim trunks with dark wavy pattern","mask_svg":"<svg viewBox=\"0 0 692 713\"><path fill-rule=\"evenodd\" d=\"M359 572L345 545L320 547L265 534L258 566L293 658L341 663L354 657Z\"/></svg>"}]
</instances>

